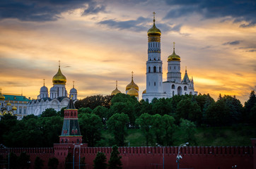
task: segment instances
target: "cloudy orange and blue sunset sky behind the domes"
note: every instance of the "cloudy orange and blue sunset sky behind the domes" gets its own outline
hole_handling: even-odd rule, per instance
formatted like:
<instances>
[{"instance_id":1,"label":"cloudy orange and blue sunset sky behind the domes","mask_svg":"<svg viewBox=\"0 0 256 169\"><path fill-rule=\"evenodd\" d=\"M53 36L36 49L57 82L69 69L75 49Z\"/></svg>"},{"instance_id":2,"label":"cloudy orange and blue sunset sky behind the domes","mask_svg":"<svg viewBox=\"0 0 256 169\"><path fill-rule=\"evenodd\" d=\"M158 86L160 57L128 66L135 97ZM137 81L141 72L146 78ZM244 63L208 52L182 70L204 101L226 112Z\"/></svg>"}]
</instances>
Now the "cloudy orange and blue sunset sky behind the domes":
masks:
<instances>
[{"instance_id":1,"label":"cloudy orange and blue sunset sky behind the domes","mask_svg":"<svg viewBox=\"0 0 256 169\"><path fill-rule=\"evenodd\" d=\"M182 77L214 99L235 95L242 104L256 89L254 0L1 0L0 87L37 98L61 61L66 89L78 99L125 92L131 82L146 89L147 30L161 30L163 81L167 58L181 58Z\"/></svg>"}]
</instances>

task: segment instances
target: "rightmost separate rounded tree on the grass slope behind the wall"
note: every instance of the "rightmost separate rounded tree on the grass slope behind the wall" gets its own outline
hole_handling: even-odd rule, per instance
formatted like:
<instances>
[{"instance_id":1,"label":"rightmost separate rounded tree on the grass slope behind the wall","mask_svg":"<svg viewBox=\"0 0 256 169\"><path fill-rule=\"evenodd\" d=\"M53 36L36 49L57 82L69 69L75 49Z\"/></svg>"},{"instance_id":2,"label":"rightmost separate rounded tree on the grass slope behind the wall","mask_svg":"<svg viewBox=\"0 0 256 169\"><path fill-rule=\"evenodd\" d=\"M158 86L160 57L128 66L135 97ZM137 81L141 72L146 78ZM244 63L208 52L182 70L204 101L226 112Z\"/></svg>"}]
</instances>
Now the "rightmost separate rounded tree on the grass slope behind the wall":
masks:
<instances>
[{"instance_id":1,"label":"rightmost separate rounded tree on the grass slope behind the wall","mask_svg":"<svg viewBox=\"0 0 256 169\"><path fill-rule=\"evenodd\" d=\"M190 145L197 144L194 134L196 133L196 125L190 120L180 120L180 130L181 130L181 142L189 142Z\"/></svg>"}]
</instances>

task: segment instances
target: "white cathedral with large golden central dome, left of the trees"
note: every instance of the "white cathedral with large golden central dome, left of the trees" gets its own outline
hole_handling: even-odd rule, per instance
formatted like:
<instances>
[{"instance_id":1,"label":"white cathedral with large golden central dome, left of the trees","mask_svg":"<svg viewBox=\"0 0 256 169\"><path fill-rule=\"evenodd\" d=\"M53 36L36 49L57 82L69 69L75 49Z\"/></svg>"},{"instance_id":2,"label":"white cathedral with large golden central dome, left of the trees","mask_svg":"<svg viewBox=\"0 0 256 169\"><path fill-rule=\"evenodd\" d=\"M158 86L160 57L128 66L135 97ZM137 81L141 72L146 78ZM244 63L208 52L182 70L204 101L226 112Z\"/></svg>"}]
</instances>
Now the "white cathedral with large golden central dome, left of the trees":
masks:
<instances>
[{"instance_id":1,"label":"white cathedral with large golden central dome, left of the trees","mask_svg":"<svg viewBox=\"0 0 256 169\"><path fill-rule=\"evenodd\" d=\"M55 111L61 111L62 108L69 104L69 99L77 100L77 90L73 88L68 93L66 91L66 77L62 74L60 69L54 77L52 77L53 87L50 89L50 95L48 88L45 87L45 81L40 89L40 94L37 99L33 99L28 103L28 114L40 115L47 108L54 108Z\"/></svg>"}]
</instances>

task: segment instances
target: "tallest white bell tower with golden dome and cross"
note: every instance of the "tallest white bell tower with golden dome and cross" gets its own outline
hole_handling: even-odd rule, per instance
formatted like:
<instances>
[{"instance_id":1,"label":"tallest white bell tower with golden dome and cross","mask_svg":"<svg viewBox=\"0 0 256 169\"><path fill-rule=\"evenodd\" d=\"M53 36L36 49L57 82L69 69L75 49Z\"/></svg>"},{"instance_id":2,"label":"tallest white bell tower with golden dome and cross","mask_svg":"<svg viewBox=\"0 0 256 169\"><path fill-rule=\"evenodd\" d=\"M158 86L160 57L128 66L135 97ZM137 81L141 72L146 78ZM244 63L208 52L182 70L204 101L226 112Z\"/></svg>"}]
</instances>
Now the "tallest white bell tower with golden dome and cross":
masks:
<instances>
[{"instance_id":1,"label":"tallest white bell tower with golden dome and cross","mask_svg":"<svg viewBox=\"0 0 256 169\"><path fill-rule=\"evenodd\" d=\"M163 61L161 61L161 30L155 24L148 31L148 61L146 61L146 93L142 99L151 102L153 98L165 97L163 94Z\"/></svg>"}]
</instances>

